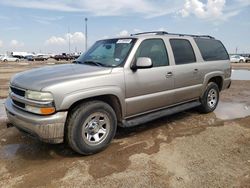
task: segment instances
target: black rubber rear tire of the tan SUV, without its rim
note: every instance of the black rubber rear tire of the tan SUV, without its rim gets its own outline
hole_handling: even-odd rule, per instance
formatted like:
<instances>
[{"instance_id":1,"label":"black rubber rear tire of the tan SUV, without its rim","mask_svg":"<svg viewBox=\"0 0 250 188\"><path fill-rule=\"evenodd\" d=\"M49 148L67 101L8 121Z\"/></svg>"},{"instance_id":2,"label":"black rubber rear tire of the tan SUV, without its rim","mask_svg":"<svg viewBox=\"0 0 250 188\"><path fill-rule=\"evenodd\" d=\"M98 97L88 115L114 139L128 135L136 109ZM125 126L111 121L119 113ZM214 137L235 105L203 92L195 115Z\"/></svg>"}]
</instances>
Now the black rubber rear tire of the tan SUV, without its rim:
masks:
<instances>
[{"instance_id":1,"label":"black rubber rear tire of the tan SUV, without its rim","mask_svg":"<svg viewBox=\"0 0 250 188\"><path fill-rule=\"evenodd\" d=\"M214 89L217 93L217 101L216 101L216 104L214 105L214 107L212 107L212 108L210 106L208 106L208 101L207 101L208 100L208 93L211 89ZM201 108L200 108L201 111L204 113L213 112L218 105L219 98L220 98L220 94L219 94L219 88L218 88L217 84L214 82L210 82L207 85L206 91L201 98Z\"/></svg>"}]
</instances>

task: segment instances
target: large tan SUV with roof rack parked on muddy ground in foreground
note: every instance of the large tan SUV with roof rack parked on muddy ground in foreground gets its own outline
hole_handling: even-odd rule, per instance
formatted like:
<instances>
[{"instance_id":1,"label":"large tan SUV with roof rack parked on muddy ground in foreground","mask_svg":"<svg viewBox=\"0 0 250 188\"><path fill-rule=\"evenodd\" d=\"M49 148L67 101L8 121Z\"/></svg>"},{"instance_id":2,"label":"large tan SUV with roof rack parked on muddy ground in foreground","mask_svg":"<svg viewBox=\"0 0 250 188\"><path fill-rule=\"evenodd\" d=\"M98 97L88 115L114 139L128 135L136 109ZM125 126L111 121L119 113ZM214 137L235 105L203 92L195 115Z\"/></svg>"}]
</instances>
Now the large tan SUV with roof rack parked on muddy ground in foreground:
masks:
<instances>
[{"instance_id":1,"label":"large tan SUV with roof rack parked on muddy ground in foreground","mask_svg":"<svg viewBox=\"0 0 250 188\"><path fill-rule=\"evenodd\" d=\"M212 112L230 77L219 40L146 32L97 41L73 64L15 75L5 106L19 130L88 155L104 149L117 126L198 106Z\"/></svg>"}]
</instances>

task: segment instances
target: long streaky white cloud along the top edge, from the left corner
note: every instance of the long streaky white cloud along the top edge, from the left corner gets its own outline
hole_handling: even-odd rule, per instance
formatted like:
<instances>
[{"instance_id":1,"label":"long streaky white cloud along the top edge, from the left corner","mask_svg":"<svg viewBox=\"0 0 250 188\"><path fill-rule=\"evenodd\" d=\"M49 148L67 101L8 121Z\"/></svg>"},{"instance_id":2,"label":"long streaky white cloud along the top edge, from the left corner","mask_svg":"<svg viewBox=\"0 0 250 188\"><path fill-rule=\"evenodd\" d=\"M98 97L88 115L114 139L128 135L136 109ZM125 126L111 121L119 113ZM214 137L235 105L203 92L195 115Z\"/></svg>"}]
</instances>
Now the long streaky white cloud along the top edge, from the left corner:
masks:
<instances>
[{"instance_id":1,"label":"long streaky white cloud along the top edge, from the left corner","mask_svg":"<svg viewBox=\"0 0 250 188\"><path fill-rule=\"evenodd\" d=\"M176 12L183 2L181 0L1 0L5 6L55 10L64 12L85 12L95 16L118 16L141 14L145 17L157 17ZM139 5L140 7L138 8Z\"/></svg>"}]
</instances>

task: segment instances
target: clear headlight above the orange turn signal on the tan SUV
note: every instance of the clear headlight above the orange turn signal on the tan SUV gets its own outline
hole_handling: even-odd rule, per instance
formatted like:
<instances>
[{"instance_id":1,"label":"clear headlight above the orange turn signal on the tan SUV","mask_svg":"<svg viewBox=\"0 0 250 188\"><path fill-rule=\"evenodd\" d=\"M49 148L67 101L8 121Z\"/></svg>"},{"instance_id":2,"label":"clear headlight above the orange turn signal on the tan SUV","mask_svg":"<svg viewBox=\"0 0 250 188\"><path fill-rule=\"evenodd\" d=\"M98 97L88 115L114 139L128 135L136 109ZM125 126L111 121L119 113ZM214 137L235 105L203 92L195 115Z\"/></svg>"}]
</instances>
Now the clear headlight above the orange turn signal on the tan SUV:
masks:
<instances>
[{"instance_id":1,"label":"clear headlight above the orange turn signal on the tan SUV","mask_svg":"<svg viewBox=\"0 0 250 188\"><path fill-rule=\"evenodd\" d=\"M38 92L27 90L25 92L25 97L27 99L37 100L37 101L53 101L53 95L48 92Z\"/></svg>"}]
</instances>

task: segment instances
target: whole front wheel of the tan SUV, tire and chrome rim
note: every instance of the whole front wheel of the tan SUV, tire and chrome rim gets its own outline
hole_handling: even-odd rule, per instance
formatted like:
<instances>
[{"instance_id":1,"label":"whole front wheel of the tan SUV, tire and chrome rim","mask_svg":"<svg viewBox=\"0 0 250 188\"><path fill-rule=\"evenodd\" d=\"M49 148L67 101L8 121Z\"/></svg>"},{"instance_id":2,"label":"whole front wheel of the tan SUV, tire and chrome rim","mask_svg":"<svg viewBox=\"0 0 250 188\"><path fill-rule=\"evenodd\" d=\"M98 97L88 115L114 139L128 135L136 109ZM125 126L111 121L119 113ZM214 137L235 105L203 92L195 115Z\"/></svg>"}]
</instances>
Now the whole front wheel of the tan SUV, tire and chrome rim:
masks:
<instances>
[{"instance_id":1,"label":"whole front wheel of the tan SUV, tire and chrome rim","mask_svg":"<svg viewBox=\"0 0 250 188\"><path fill-rule=\"evenodd\" d=\"M91 155L110 144L116 127L117 118L111 106L102 101L89 101L76 106L70 112L65 138L75 152Z\"/></svg>"}]
</instances>

